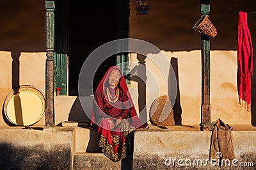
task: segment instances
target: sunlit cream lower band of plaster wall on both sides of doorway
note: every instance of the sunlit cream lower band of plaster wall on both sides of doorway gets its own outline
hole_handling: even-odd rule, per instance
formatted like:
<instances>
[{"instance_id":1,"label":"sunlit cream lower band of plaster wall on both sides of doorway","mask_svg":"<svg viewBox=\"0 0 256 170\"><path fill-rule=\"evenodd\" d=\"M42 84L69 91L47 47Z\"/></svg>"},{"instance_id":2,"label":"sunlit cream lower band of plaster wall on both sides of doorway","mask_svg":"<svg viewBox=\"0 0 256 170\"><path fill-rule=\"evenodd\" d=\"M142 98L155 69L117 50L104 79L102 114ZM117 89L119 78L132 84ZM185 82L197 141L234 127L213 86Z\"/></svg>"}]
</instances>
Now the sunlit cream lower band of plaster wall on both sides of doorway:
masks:
<instances>
[{"instance_id":1,"label":"sunlit cream lower band of plaster wall on both sides of doorway","mask_svg":"<svg viewBox=\"0 0 256 170\"><path fill-rule=\"evenodd\" d=\"M166 52L161 51L168 59L163 70L170 70L172 58L177 61L180 106L182 107L182 125L200 124L201 107L201 57L200 50ZM156 58L159 54L148 54L150 58ZM36 86L45 94L45 52L21 52L19 58L19 72L12 77L12 55L11 52L0 52L1 56L1 94L0 102L3 106L4 99L12 91L12 80L19 77L19 85L29 84ZM131 54L131 61L138 63L136 54ZM164 73L150 58L145 59L147 68L146 110L149 112L152 102L161 95L168 95L168 79ZM239 105L236 86L236 51L235 50L212 50L211 51L211 119L212 121L221 118L225 123L250 124L251 112ZM132 68L131 68L132 70ZM166 75L169 76L167 73ZM154 83L157 82L157 87ZM131 88L138 89L138 83L131 81ZM172 87L171 87L172 88ZM151 91L148 93L148 91ZM137 90L132 91L136 109L139 112ZM92 101L88 102L88 112L91 109ZM54 107L56 113L56 124L67 121L72 113L73 120L87 121L79 99L77 97L55 97ZM77 118L75 118L77 117ZM36 125L44 125L44 118ZM0 126L6 126L3 116L0 119Z\"/></svg>"}]
</instances>

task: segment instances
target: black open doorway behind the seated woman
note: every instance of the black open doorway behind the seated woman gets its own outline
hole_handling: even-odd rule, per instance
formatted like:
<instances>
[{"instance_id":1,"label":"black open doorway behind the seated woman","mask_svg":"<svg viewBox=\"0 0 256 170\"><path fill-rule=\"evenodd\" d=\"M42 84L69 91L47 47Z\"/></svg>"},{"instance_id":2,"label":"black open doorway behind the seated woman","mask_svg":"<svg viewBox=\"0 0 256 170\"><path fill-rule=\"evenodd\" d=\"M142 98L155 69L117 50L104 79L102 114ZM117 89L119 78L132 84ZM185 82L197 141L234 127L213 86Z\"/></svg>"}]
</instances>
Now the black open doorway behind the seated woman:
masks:
<instances>
[{"instance_id":1,"label":"black open doorway behind the seated woman","mask_svg":"<svg viewBox=\"0 0 256 170\"><path fill-rule=\"evenodd\" d=\"M127 38L128 23L129 1L69 1L68 95L78 95L79 73L90 53L104 43ZM116 56L109 57L99 66L93 79L93 90L113 65L116 65ZM91 91L88 89L87 95Z\"/></svg>"}]
</instances>

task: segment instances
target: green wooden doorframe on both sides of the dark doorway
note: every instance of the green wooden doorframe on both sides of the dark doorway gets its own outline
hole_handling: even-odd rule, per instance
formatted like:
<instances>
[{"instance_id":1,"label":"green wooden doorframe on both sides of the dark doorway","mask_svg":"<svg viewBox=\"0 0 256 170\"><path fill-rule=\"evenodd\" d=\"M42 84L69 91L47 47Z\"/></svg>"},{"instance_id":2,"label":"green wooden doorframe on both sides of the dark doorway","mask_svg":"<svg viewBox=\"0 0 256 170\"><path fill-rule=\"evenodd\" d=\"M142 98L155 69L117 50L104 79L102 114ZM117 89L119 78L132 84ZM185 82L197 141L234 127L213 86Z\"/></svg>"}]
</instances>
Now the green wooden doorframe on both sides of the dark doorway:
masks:
<instances>
[{"instance_id":1,"label":"green wooden doorframe on both sides of the dark doorway","mask_svg":"<svg viewBox=\"0 0 256 170\"><path fill-rule=\"evenodd\" d=\"M116 0L117 19L116 19L116 39L128 38L130 0ZM55 9L55 45L54 45L54 92L56 88L61 88L60 95L68 95L68 27L69 27L69 8L70 0L56 0ZM64 24L63 24L64 23ZM124 44L118 48L128 49ZM129 52L116 54L116 65L127 75L129 73ZM123 63L123 64L122 64ZM129 80L125 79L127 84Z\"/></svg>"}]
</instances>

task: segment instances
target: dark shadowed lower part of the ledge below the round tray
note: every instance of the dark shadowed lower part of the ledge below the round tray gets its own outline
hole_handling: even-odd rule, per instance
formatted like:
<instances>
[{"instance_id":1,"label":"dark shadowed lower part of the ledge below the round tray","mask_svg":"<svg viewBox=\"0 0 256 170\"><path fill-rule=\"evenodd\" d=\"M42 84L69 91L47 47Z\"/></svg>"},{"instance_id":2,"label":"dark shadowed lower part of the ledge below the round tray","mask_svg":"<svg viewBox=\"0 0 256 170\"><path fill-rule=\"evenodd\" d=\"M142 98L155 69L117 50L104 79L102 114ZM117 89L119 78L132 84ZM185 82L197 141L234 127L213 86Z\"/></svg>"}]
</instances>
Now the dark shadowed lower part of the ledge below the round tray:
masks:
<instances>
[{"instance_id":1,"label":"dark shadowed lower part of the ledge below the round tray","mask_svg":"<svg viewBox=\"0 0 256 170\"><path fill-rule=\"evenodd\" d=\"M71 150L65 144L45 148L0 143L1 169L71 169ZM54 160L54 161L52 161Z\"/></svg>"}]
</instances>

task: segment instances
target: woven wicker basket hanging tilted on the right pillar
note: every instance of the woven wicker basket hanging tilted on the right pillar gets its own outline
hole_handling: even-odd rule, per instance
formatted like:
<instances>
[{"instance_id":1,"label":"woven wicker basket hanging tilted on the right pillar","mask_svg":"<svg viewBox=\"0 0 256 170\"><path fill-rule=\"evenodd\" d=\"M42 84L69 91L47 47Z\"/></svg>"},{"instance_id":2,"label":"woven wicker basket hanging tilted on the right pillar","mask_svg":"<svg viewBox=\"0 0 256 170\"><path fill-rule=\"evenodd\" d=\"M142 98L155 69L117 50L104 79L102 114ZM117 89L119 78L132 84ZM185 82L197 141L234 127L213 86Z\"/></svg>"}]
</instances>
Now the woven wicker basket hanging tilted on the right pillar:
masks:
<instances>
[{"instance_id":1,"label":"woven wicker basket hanging tilted on the right pillar","mask_svg":"<svg viewBox=\"0 0 256 170\"><path fill-rule=\"evenodd\" d=\"M207 15L204 15L200 20L198 20L193 29L209 38L214 38L217 35L217 30Z\"/></svg>"}]
</instances>

